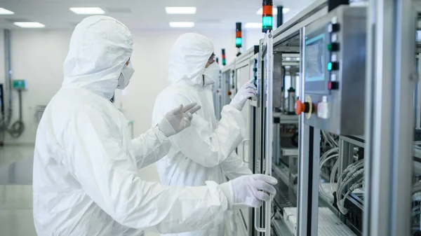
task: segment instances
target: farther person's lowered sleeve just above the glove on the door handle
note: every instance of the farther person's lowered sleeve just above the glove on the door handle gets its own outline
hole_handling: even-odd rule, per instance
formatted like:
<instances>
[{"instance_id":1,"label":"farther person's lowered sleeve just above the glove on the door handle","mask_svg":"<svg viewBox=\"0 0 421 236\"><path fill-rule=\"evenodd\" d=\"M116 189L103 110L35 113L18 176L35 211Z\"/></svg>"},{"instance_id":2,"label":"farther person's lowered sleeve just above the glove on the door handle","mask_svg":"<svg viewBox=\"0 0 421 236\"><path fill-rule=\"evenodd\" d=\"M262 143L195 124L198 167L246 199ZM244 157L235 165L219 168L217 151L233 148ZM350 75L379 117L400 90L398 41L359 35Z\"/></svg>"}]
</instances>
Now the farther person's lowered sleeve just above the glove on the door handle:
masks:
<instances>
[{"instance_id":1,"label":"farther person's lowered sleeve just above the glove on the door handle","mask_svg":"<svg viewBox=\"0 0 421 236\"><path fill-rule=\"evenodd\" d=\"M236 179L239 176L253 174L236 152L229 155L229 157L222 162L221 166L225 176L230 180Z\"/></svg>"}]
</instances>

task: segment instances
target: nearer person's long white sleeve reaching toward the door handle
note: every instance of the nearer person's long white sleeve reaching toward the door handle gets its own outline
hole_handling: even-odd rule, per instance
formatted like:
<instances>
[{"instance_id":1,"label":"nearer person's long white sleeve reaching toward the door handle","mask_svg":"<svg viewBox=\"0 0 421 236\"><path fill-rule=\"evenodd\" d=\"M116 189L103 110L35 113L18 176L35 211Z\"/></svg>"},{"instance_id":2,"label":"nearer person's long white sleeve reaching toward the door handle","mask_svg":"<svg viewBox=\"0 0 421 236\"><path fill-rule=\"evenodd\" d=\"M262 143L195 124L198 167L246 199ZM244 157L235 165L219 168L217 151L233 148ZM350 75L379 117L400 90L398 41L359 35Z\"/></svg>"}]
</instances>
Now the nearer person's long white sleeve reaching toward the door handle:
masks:
<instances>
[{"instance_id":1,"label":"nearer person's long white sleeve reaching toward the door handle","mask_svg":"<svg viewBox=\"0 0 421 236\"><path fill-rule=\"evenodd\" d=\"M176 233L222 223L227 197L215 182L177 188L143 181L121 145L119 125L102 113L78 112L65 130L63 165L93 202L121 225Z\"/></svg>"}]
</instances>

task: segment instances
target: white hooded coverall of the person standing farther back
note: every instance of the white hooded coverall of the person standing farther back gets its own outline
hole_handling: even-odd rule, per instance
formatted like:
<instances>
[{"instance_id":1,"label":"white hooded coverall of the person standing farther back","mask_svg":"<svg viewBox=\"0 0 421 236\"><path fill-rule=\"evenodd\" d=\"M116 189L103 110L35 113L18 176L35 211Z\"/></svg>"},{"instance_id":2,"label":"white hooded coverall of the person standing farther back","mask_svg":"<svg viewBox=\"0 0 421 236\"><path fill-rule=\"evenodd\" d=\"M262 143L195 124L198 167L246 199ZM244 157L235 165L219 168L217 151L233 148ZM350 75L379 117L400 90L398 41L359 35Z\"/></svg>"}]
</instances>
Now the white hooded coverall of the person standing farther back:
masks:
<instances>
[{"instance_id":1,"label":"white hooded coverall of the person standing farther back","mask_svg":"<svg viewBox=\"0 0 421 236\"><path fill-rule=\"evenodd\" d=\"M202 109L194 115L192 126L170 137L170 152L156 163L164 185L202 186L209 180L223 183L227 178L252 174L234 152L246 132L241 111L224 106L218 123L212 87L203 86L202 74L212 53L213 43L199 34L183 34L172 48L168 77L172 85L156 98L152 122L161 120L174 104L197 102ZM243 236L245 230L240 211L228 211L220 227L176 235Z\"/></svg>"}]
</instances>

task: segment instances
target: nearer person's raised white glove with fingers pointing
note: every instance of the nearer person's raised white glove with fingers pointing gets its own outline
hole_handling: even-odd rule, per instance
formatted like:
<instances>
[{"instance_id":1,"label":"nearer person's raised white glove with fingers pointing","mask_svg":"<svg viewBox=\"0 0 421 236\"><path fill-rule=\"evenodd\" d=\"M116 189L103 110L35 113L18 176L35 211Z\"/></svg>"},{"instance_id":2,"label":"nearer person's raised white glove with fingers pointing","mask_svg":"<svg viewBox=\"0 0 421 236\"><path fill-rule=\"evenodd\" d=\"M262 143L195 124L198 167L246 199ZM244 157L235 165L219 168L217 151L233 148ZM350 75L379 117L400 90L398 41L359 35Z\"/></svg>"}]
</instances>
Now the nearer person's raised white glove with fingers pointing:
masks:
<instances>
[{"instance_id":1,"label":"nearer person's raised white glove with fingers pointing","mask_svg":"<svg viewBox=\"0 0 421 236\"><path fill-rule=\"evenodd\" d=\"M196 102L187 104L186 106L180 105L178 108L166 113L164 118L158 124L159 130L165 134L166 137L170 137L178 132L189 127L192 123L193 113L199 111L201 106Z\"/></svg>"}]
</instances>

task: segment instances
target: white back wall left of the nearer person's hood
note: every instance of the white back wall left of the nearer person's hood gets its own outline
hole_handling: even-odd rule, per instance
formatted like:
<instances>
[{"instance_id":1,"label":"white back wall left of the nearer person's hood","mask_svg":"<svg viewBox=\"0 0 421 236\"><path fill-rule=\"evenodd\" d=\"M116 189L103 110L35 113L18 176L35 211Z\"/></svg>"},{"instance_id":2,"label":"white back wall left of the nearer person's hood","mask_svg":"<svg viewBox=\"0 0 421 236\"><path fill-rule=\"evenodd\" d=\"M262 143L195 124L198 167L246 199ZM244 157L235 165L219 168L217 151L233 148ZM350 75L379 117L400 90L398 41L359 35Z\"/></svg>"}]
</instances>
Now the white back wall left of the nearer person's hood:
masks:
<instances>
[{"instance_id":1,"label":"white back wall left of the nearer person's hood","mask_svg":"<svg viewBox=\"0 0 421 236\"><path fill-rule=\"evenodd\" d=\"M6 144L34 143L37 125L35 107L48 104L61 86L62 62L67 55L71 33L48 30L11 32L12 79L26 79L28 89L22 92L25 132L18 139L6 135ZM4 59L4 53L0 58ZM13 123L18 119L18 92L13 90L12 95Z\"/></svg>"}]
</instances>

